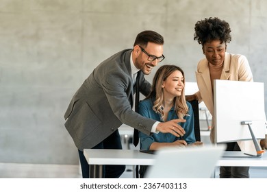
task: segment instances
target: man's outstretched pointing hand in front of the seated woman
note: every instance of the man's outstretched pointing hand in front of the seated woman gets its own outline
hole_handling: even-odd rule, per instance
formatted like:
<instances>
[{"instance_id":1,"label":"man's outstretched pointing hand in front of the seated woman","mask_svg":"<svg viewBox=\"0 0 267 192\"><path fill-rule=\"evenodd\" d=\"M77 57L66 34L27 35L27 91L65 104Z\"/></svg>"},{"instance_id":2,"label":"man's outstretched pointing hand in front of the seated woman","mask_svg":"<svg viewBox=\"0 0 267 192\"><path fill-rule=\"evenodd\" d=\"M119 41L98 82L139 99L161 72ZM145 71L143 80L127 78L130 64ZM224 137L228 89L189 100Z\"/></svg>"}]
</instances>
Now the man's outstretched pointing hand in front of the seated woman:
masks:
<instances>
[{"instance_id":1,"label":"man's outstretched pointing hand in front of the seated woman","mask_svg":"<svg viewBox=\"0 0 267 192\"><path fill-rule=\"evenodd\" d=\"M170 133L177 137L183 136L186 132L183 130L181 125L178 123L184 123L186 122L186 119L173 119L164 123L158 123L156 131L162 132L162 133Z\"/></svg>"}]
</instances>

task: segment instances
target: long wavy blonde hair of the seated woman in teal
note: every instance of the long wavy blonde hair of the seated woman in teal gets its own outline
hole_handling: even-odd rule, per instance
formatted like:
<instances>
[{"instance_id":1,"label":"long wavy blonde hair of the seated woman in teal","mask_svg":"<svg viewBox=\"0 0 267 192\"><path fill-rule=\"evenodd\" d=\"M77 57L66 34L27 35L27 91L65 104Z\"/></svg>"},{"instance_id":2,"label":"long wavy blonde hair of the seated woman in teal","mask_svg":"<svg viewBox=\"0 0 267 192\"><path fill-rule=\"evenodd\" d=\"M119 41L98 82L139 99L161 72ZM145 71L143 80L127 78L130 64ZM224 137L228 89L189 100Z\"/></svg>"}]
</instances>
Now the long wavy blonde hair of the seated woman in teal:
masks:
<instances>
[{"instance_id":1,"label":"long wavy blonde hair of the seated woman in teal","mask_svg":"<svg viewBox=\"0 0 267 192\"><path fill-rule=\"evenodd\" d=\"M166 64L160 67L159 69L157 69L155 76L153 78L151 93L146 98L146 99L155 98L155 101L153 102L153 110L159 113L160 115L162 115L162 117L164 117L165 115L164 111L162 110L162 103L164 99L162 83L174 71L181 72L181 74L183 75L183 84L185 86L186 81L185 81L183 70L180 67L177 67L175 65ZM174 98L174 107L175 107L175 112L180 119L183 119L183 117L187 115L188 105L186 104L186 96L184 93L184 87L181 92L181 96Z\"/></svg>"}]
</instances>

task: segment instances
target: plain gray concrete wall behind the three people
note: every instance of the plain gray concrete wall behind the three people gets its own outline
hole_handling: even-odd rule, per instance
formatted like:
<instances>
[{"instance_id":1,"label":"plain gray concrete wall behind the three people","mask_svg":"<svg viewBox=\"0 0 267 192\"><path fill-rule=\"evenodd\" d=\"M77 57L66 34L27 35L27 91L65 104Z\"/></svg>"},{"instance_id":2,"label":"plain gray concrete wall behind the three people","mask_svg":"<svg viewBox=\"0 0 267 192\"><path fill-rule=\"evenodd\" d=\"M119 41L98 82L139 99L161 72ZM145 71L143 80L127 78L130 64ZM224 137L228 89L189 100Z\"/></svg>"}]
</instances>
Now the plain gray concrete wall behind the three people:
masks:
<instances>
[{"instance_id":1,"label":"plain gray concrete wall behind the three people","mask_svg":"<svg viewBox=\"0 0 267 192\"><path fill-rule=\"evenodd\" d=\"M162 63L194 82L203 58L194 23L209 16L230 23L228 51L267 82L264 0L0 0L0 162L77 164L63 115L94 67L153 29L166 41Z\"/></svg>"}]
</instances>

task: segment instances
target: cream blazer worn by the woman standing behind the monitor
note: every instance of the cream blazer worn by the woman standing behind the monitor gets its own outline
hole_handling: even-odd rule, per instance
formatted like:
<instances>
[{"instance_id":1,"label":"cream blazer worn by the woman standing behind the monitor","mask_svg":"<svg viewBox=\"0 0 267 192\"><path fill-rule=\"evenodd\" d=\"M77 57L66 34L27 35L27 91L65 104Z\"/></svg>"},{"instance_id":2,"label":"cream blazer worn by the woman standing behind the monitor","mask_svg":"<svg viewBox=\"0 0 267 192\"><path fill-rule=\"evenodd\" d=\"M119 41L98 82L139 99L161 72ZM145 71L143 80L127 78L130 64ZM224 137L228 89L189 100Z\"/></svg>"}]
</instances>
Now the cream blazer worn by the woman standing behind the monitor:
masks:
<instances>
[{"instance_id":1,"label":"cream blazer worn by the woman standing behind the monitor","mask_svg":"<svg viewBox=\"0 0 267 192\"><path fill-rule=\"evenodd\" d=\"M239 54L225 53L220 80L253 82L253 75L246 57ZM207 109L212 117L214 117L214 95L206 58L199 61L196 71L196 82L199 86L199 91L196 93L199 102L204 101ZM214 118L212 118L210 139L214 143ZM242 151L255 151L253 141L238 141L238 145Z\"/></svg>"}]
</instances>

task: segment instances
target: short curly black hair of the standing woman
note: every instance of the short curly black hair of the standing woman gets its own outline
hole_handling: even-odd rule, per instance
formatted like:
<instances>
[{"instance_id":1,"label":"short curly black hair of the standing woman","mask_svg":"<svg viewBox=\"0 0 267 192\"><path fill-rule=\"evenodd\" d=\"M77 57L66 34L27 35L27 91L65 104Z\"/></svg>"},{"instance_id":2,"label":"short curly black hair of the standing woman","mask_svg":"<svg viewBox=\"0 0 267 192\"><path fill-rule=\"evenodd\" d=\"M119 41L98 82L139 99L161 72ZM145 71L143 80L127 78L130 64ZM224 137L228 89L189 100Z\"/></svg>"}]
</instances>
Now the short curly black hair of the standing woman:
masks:
<instances>
[{"instance_id":1,"label":"short curly black hair of the standing woman","mask_svg":"<svg viewBox=\"0 0 267 192\"><path fill-rule=\"evenodd\" d=\"M220 40L221 43L230 43L231 41L229 23L217 17L197 21L194 32L194 40L197 40L202 46L211 40Z\"/></svg>"}]
</instances>

